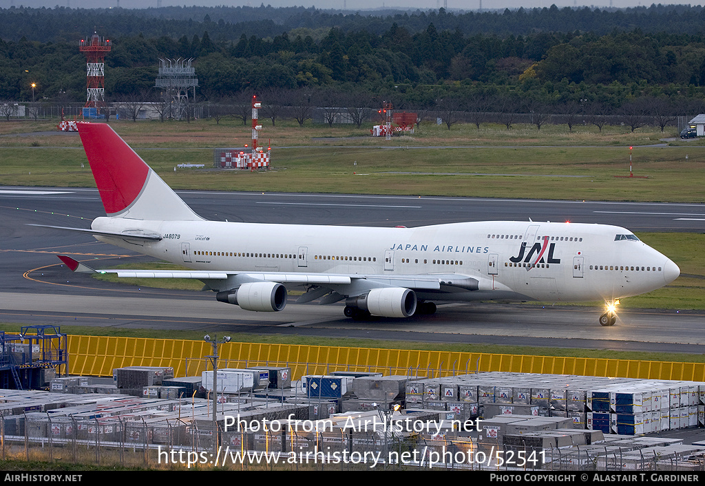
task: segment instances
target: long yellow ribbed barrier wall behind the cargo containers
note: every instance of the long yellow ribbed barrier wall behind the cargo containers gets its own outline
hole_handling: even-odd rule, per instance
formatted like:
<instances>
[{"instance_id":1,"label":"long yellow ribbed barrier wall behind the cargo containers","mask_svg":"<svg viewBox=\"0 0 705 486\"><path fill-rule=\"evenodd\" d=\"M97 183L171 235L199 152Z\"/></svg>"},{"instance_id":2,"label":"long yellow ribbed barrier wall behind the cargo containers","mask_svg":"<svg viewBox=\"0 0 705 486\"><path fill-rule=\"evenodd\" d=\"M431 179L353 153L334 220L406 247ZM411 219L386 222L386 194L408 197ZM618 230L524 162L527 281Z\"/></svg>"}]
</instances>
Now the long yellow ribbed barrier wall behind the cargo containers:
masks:
<instances>
[{"instance_id":1,"label":"long yellow ribbed barrier wall behind the cargo containers","mask_svg":"<svg viewBox=\"0 0 705 486\"><path fill-rule=\"evenodd\" d=\"M205 341L68 336L68 374L111 376L123 366L164 366L173 367L176 377L195 376L212 369L205 358L210 354ZM293 379L338 370L423 377L477 370L705 382L702 363L257 343L221 344L219 356L219 367L289 366Z\"/></svg>"}]
</instances>

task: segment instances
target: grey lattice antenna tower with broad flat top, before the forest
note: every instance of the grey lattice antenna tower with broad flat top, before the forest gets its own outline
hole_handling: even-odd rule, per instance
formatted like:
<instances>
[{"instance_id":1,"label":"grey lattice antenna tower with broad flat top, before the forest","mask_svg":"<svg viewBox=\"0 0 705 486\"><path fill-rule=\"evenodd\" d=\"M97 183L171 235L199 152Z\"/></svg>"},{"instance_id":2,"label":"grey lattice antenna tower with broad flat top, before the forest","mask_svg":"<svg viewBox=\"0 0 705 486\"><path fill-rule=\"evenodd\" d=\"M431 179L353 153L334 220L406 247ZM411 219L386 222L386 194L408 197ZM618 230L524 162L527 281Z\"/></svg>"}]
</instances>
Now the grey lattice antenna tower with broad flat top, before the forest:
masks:
<instances>
[{"instance_id":1,"label":"grey lattice antenna tower with broad flat top, before the forest","mask_svg":"<svg viewBox=\"0 0 705 486\"><path fill-rule=\"evenodd\" d=\"M183 119L188 109L189 91L192 99L196 98L196 69L191 66L192 59L159 59L159 77L156 86L161 88L169 104L169 118Z\"/></svg>"}]
</instances>

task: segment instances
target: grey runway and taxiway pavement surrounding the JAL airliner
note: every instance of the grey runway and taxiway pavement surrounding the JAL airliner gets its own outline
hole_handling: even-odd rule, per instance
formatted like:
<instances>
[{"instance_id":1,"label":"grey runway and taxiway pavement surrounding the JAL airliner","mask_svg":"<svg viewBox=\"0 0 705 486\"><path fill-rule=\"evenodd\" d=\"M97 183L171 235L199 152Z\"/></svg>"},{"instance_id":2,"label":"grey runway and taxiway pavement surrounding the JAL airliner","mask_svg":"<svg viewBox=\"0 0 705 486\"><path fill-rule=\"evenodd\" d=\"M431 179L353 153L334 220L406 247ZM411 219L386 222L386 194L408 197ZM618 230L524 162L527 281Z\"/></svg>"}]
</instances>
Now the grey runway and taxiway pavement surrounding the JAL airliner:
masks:
<instances>
[{"instance_id":1,"label":"grey runway and taxiway pavement surrounding the JAL airliner","mask_svg":"<svg viewBox=\"0 0 705 486\"><path fill-rule=\"evenodd\" d=\"M609 223L633 231L705 231L705 205L403 196L219 193L180 196L208 219L302 224L420 226L457 221ZM72 274L57 253L110 267L147 257L91 236L27 226L90 227L104 214L97 190L0 187L0 320L27 324L197 329L305 336L357 336L425 342L522 344L619 350L705 352L703 312L622 311L601 327L601 310L577 306L443 304L432 316L354 322L340 304L289 303L282 312L247 312L210 292L133 288Z\"/></svg>"}]
</instances>

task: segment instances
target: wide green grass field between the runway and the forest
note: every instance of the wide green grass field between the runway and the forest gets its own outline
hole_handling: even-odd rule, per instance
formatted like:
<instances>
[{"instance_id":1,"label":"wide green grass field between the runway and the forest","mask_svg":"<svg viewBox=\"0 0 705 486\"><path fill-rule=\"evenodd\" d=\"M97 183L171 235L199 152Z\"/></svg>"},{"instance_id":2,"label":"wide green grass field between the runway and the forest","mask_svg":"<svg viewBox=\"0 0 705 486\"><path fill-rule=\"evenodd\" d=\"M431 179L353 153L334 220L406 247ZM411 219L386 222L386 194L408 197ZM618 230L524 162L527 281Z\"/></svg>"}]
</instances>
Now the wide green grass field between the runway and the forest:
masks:
<instances>
[{"instance_id":1,"label":"wide green grass field between the runway and the forest","mask_svg":"<svg viewBox=\"0 0 705 486\"><path fill-rule=\"evenodd\" d=\"M422 123L392 140L368 128L264 123L271 171L212 170L214 147L250 143L250 128L231 120L193 123L113 122L116 131L176 189L267 192L449 195L565 200L703 202L705 140L659 139L674 133L623 127L444 126ZM0 135L49 130L45 123L0 123ZM632 169L637 176L615 178ZM76 134L0 137L0 178L6 185L94 185ZM83 166L82 166L83 164ZM205 169L174 170L178 164Z\"/></svg>"}]
</instances>

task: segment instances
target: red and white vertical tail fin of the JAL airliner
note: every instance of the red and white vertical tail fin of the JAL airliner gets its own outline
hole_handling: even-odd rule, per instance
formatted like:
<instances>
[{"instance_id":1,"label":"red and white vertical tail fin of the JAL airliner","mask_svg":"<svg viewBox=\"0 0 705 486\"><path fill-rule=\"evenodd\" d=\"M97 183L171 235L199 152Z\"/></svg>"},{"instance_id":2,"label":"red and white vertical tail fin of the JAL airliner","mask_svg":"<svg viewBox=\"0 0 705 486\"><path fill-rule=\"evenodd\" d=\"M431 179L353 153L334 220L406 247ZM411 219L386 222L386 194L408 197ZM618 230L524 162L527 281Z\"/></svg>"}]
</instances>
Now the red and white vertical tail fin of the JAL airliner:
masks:
<instances>
[{"instance_id":1,"label":"red and white vertical tail fin of the JAL airliner","mask_svg":"<svg viewBox=\"0 0 705 486\"><path fill-rule=\"evenodd\" d=\"M108 216L195 221L186 205L106 123L76 123Z\"/></svg>"}]
</instances>

